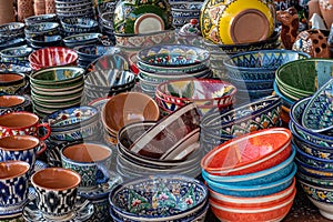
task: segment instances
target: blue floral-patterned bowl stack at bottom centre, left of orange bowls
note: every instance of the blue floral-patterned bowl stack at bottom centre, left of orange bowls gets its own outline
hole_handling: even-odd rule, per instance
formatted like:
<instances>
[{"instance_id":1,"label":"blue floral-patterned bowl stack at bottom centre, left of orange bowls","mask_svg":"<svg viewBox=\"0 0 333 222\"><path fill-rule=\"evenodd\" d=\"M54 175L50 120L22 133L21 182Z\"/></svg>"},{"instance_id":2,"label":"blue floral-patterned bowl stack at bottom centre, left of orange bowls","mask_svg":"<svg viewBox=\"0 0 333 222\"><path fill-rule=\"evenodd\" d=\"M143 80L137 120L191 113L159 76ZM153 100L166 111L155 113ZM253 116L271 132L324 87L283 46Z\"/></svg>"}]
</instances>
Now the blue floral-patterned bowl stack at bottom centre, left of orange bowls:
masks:
<instances>
[{"instance_id":1,"label":"blue floral-patterned bowl stack at bottom centre, left of orange bowls","mask_svg":"<svg viewBox=\"0 0 333 222\"><path fill-rule=\"evenodd\" d=\"M203 222L209 209L206 186L179 174L124 182L111 191L109 202L115 222Z\"/></svg>"}]
</instances>

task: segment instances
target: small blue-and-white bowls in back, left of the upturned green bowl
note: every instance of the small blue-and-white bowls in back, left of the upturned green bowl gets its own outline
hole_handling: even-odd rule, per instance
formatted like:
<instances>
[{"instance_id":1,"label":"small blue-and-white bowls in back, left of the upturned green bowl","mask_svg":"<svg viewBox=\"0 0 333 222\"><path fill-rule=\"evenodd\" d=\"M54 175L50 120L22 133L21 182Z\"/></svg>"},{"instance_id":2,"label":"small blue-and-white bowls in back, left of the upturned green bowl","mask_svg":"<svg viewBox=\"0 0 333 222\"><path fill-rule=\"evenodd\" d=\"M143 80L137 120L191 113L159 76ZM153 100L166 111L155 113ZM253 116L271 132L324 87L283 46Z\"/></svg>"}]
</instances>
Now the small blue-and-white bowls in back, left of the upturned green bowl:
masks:
<instances>
[{"instance_id":1,"label":"small blue-and-white bowls in back, left of the upturned green bowl","mask_svg":"<svg viewBox=\"0 0 333 222\"><path fill-rule=\"evenodd\" d=\"M90 18L63 18L60 23L64 37L99 31L98 21Z\"/></svg>"}]
</instances>

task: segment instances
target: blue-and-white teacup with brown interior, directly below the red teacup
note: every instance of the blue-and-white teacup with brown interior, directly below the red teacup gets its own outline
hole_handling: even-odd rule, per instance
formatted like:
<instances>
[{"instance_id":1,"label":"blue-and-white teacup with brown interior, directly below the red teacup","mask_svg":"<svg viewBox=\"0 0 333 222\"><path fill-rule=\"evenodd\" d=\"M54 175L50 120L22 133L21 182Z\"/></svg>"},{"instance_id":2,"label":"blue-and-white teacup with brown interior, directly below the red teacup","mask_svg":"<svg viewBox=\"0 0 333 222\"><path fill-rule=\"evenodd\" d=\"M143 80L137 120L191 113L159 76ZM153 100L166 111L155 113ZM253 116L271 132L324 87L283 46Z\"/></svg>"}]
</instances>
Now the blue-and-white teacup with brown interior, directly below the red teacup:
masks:
<instances>
[{"instance_id":1,"label":"blue-and-white teacup with brown interior, directly below the red teacup","mask_svg":"<svg viewBox=\"0 0 333 222\"><path fill-rule=\"evenodd\" d=\"M46 143L32 135L11 135L0 138L0 161L20 160L33 170L36 157L47 149Z\"/></svg>"}]
</instances>

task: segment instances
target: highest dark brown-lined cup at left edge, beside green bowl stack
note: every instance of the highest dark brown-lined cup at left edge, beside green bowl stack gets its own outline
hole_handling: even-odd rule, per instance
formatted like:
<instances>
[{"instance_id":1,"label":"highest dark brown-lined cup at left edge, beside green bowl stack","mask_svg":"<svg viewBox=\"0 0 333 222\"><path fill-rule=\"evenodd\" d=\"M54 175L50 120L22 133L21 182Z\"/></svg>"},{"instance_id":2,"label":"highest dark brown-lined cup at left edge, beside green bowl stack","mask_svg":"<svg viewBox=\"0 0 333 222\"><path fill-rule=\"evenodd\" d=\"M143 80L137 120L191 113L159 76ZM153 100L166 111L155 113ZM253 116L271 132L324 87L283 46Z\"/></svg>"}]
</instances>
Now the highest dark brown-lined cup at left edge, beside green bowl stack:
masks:
<instances>
[{"instance_id":1,"label":"highest dark brown-lined cup at left edge, beside green bowl stack","mask_svg":"<svg viewBox=\"0 0 333 222\"><path fill-rule=\"evenodd\" d=\"M23 94L27 85L23 73L1 73L0 75L0 94Z\"/></svg>"}]
</instances>

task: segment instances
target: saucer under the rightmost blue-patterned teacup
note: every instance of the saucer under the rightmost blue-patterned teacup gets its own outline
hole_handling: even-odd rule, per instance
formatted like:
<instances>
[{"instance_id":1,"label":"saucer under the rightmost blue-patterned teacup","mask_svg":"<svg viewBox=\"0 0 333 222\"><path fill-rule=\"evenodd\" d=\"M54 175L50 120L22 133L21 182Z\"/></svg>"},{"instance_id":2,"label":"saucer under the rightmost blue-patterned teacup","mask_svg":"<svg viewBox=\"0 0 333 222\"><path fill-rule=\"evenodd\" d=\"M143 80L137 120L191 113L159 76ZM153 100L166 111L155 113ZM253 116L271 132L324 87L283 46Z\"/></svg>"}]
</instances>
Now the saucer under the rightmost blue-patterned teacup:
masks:
<instances>
[{"instance_id":1,"label":"saucer under the rightmost blue-patterned teacup","mask_svg":"<svg viewBox=\"0 0 333 222\"><path fill-rule=\"evenodd\" d=\"M78 189L78 195L87 198L89 200L98 200L98 199L104 199L109 195L111 190L123 182L122 178L111 171L109 172L109 180L105 183L99 184L97 188L93 189Z\"/></svg>"}]
</instances>

